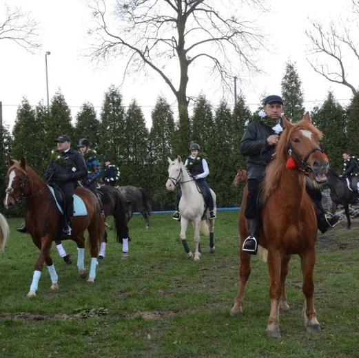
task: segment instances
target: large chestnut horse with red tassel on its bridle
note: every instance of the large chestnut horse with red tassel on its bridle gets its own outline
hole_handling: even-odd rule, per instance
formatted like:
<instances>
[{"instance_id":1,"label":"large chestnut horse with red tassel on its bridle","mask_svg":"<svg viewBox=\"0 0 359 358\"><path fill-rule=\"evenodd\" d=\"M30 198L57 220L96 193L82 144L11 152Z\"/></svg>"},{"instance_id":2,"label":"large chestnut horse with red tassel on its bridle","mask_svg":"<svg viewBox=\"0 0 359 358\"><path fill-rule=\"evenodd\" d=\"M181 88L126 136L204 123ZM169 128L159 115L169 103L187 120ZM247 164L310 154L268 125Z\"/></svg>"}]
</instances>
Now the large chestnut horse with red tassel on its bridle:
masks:
<instances>
[{"instance_id":1,"label":"large chestnut horse with red tassel on its bridle","mask_svg":"<svg viewBox=\"0 0 359 358\"><path fill-rule=\"evenodd\" d=\"M316 262L317 222L314 204L305 182L311 174L314 182L327 180L329 163L322 153L322 133L311 125L309 114L298 123L289 123L283 116L285 131L280 135L274 159L267 166L263 180L262 227L259 253L269 269L270 314L268 337L280 337L279 309L289 310L285 280L291 255L300 256L305 295L305 326L309 332L320 331L314 308L313 272ZM247 202L247 187L242 208ZM249 235L244 210L240 210L238 229L240 247ZM251 272L251 255L240 250L239 286L231 315L243 310L245 285Z\"/></svg>"}]
</instances>

